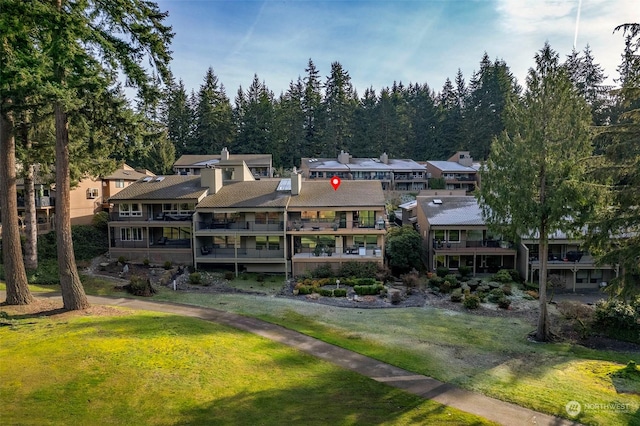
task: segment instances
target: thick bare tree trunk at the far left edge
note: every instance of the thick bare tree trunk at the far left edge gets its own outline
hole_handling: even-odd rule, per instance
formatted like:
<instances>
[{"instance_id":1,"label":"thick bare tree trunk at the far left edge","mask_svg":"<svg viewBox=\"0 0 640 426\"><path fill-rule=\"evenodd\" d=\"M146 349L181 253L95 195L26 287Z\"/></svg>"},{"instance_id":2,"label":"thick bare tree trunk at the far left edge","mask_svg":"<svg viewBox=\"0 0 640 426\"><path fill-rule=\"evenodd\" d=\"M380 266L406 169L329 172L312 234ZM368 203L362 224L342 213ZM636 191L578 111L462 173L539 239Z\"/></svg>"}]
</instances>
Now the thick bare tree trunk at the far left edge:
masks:
<instances>
[{"instance_id":1,"label":"thick bare tree trunk at the far left edge","mask_svg":"<svg viewBox=\"0 0 640 426\"><path fill-rule=\"evenodd\" d=\"M2 256L7 283L7 304L28 305L33 302L24 269L18 226L16 188L16 145L13 120L0 113L0 210L2 211Z\"/></svg>"}]
</instances>

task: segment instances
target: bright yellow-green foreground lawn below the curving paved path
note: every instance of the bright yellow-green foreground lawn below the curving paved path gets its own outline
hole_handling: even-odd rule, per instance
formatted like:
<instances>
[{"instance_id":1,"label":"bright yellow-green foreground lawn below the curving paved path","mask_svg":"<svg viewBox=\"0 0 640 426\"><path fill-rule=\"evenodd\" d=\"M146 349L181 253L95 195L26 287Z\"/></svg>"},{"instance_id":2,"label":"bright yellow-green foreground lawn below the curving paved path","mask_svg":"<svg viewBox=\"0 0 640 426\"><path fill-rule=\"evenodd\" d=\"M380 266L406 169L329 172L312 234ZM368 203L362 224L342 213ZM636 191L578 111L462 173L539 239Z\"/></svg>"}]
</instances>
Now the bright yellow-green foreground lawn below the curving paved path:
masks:
<instances>
[{"instance_id":1,"label":"bright yellow-green foreground lawn below the curving paved path","mask_svg":"<svg viewBox=\"0 0 640 426\"><path fill-rule=\"evenodd\" d=\"M0 307L2 424L490 424L197 319L11 309Z\"/></svg>"}]
</instances>

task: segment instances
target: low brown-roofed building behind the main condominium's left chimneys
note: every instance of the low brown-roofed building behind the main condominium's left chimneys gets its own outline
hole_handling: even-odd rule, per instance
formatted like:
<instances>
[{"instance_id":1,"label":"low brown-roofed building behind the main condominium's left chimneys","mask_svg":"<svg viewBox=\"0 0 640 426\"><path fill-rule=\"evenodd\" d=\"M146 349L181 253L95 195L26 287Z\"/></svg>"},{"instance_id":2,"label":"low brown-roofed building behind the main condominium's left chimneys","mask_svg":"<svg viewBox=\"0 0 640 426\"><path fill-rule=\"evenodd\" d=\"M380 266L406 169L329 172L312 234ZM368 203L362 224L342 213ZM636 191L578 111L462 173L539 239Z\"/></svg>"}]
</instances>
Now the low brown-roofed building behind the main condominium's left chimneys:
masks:
<instances>
[{"instance_id":1,"label":"low brown-roofed building behind the main condominium's left chimneys","mask_svg":"<svg viewBox=\"0 0 640 426\"><path fill-rule=\"evenodd\" d=\"M223 148L220 155L183 155L173 164L173 171L176 174L199 175L207 167L219 167L224 172L226 168L235 168L242 163L256 179L273 176L271 154L230 154L227 148ZM223 177L226 181L237 180L228 172L224 172Z\"/></svg>"}]
</instances>

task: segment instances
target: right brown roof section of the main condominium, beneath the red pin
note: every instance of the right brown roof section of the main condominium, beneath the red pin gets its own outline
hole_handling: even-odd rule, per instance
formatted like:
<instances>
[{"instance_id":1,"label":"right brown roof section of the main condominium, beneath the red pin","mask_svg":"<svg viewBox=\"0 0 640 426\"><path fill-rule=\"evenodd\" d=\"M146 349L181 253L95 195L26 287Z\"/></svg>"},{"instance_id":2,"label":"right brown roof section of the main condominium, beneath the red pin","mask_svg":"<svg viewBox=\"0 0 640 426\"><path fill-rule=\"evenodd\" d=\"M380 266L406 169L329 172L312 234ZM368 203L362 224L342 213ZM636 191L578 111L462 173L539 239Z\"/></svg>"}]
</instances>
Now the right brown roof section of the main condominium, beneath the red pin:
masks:
<instances>
[{"instance_id":1,"label":"right brown roof section of the main condominium, beneath the red pin","mask_svg":"<svg viewBox=\"0 0 640 426\"><path fill-rule=\"evenodd\" d=\"M337 190L329 181L302 182L299 195L292 195L289 207L371 207L384 206L384 192L378 181L343 180Z\"/></svg>"}]
</instances>

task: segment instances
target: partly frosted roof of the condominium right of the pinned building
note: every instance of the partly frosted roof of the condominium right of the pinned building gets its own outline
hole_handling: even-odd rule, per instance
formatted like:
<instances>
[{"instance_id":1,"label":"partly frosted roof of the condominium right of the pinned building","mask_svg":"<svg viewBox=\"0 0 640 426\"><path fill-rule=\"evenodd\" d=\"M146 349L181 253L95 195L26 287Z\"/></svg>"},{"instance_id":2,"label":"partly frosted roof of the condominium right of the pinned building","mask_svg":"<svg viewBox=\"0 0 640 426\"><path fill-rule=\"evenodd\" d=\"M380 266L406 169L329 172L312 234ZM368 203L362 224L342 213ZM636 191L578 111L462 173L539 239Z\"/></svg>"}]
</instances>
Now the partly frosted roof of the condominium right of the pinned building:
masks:
<instances>
[{"instance_id":1,"label":"partly frosted roof of the condominium right of the pinned building","mask_svg":"<svg viewBox=\"0 0 640 426\"><path fill-rule=\"evenodd\" d=\"M485 225L478 201L472 196L421 197L420 205L430 225Z\"/></svg>"}]
</instances>

